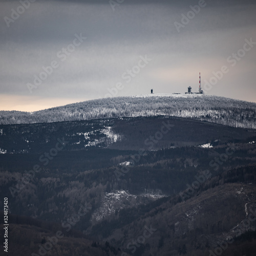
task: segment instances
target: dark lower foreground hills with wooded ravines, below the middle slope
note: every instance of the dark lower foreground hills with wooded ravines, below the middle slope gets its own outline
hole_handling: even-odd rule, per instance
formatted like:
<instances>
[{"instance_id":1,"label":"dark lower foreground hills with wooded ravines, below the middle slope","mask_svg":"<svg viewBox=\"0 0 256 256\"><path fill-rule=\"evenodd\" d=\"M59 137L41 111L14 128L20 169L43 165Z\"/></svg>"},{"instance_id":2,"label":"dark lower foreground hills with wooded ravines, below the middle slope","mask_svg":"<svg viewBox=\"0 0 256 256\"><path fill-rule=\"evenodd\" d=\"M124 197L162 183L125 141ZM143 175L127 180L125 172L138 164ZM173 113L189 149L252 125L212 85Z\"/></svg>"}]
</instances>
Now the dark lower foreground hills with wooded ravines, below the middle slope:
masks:
<instances>
[{"instance_id":1,"label":"dark lower foreground hills with wooded ravines, below the middle slope","mask_svg":"<svg viewBox=\"0 0 256 256\"><path fill-rule=\"evenodd\" d=\"M10 252L39 255L44 237L48 243L60 230L65 236L47 255L203 256L227 244L222 255L252 256L255 145L147 151L125 173L120 163L136 151L63 151L46 166L39 154L2 154L1 194L16 216L9 218ZM33 174L35 164L42 169Z\"/></svg>"}]
</instances>

